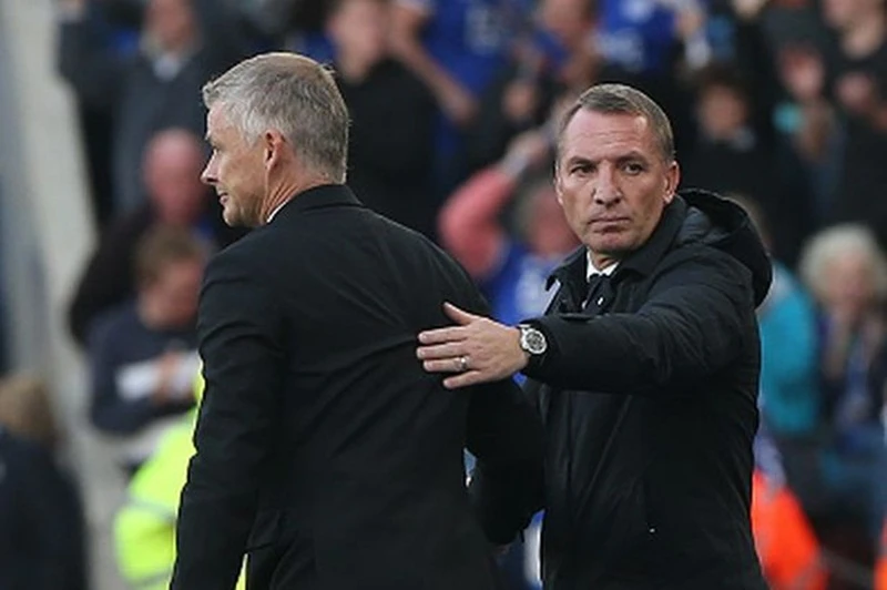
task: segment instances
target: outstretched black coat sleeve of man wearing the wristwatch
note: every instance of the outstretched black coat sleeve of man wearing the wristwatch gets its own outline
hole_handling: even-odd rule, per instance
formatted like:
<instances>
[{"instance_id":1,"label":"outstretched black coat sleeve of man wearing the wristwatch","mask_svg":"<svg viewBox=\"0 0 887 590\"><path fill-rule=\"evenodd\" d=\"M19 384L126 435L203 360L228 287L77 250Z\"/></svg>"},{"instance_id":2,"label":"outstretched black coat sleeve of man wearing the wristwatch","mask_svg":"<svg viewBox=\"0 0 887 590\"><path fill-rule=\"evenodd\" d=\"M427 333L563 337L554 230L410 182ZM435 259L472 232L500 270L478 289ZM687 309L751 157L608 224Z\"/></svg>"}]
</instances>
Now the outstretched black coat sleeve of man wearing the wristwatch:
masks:
<instances>
[{"instance_id":1,"label":"outstretched black coat sleeve of man wearing the wristwatch","mask_svg":"<svg viewBox=\"0 0 887 590\"><path fill-rule=\"evenodd\" d=\"M636 313L533 319L549 350L523 373L552 387L612 394L691 383L737 357L756 325L754 307L740 262L694 248L660 272Z\"/></svg>"}]
</instances>

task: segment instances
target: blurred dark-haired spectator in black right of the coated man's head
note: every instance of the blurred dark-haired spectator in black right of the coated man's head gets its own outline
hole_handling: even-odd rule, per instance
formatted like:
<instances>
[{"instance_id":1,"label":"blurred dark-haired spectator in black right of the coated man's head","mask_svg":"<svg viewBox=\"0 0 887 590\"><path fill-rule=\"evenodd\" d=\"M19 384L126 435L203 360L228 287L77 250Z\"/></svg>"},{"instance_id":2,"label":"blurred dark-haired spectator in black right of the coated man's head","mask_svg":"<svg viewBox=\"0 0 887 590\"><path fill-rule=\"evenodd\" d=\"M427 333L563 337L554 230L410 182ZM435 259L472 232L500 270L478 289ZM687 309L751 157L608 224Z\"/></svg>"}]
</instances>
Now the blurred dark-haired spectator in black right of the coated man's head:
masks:
<instances>
[{"instance_id":1,"label":"blurred dark-haired spectator in black right of the coated man's head","mask_svg":"<svg viewBox=\"0 0 887 590\"><path fill-rule=\"evenodd\" d=\"M733 67L715 64L699 74L699 140L686 154L685 186L704 186L753 199L769 223L773 254L793 265L810 223L804 172L787 161L755 125L751 89Z\"/></svg>"}]
</instances>

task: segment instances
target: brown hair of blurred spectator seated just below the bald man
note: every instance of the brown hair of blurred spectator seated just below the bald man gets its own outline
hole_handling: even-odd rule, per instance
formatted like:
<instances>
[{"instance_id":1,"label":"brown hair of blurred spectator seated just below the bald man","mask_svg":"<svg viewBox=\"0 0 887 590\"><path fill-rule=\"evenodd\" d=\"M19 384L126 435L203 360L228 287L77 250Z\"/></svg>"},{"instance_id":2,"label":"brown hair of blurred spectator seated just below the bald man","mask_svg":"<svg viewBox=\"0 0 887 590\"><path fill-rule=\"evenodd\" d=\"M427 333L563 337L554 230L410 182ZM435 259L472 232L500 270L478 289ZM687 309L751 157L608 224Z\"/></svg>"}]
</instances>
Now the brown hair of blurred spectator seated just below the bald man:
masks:
<instances>
[{"instance_id":1,"label":"brown hair of blurred spectator seated just below the bald man","mask_svg":"<svg viewBox=\"0 0 887 590\"><path fill-rule=\"evenodd\" d=\"M135 281L139 286L156 281L170 264L183 261L205 261L206 244L190 230L159 225L150 230L135 250Z\"/></svg>"}]
</instances>

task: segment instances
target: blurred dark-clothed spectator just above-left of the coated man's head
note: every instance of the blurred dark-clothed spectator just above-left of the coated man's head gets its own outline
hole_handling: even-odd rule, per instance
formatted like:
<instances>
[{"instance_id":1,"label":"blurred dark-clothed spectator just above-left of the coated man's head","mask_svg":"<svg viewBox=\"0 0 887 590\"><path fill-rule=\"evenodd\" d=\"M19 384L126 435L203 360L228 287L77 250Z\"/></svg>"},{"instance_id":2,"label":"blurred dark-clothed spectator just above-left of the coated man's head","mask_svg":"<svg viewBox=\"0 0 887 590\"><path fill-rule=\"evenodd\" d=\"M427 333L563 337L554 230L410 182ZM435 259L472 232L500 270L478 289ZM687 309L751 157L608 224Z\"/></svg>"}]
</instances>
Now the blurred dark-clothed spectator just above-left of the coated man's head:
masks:
<instances>
[{"instance_id":1,"label":"blurred dark-clothed spectator just above-left of the coated man's head","mask_svg":"<svg viewBox=\"0 0 887 590\"><path fill-rule=\"evenodd\" d=\"M518 134L546 124L558 96L588 88L594 74L590 0L541 0L532 29L514 43L510 60L481 94L466 134L467 169L498 161Z\"/></svg>"}]
</instances>

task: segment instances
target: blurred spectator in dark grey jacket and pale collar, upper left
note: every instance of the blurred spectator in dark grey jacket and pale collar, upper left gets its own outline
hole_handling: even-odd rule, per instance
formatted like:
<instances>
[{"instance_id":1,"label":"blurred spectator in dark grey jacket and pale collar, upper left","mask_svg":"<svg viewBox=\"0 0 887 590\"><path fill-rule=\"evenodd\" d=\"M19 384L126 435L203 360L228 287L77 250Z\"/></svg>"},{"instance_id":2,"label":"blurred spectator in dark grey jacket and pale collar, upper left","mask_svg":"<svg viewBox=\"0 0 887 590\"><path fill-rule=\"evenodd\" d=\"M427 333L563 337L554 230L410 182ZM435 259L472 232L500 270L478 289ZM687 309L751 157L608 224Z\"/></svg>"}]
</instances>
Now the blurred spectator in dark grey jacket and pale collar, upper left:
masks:
<instances>
[{"instance_id":1,"label":"blurred spectator in dark grey jacket and pale collar, upper left","mask_svg":"<svg viewBox=\"0 0 887 590\"><path fill-rule=\"evenodd\" d=\"M101 45L85 18L93 0L61 0L59 62L84 103L114 115L113 191L118 214L145 201L140 167L150 138L181 126L204 133L200 89L242 58L236 19L217 0L147 0L141 49L121 57Z\"/></svg>"}]
</instances>

